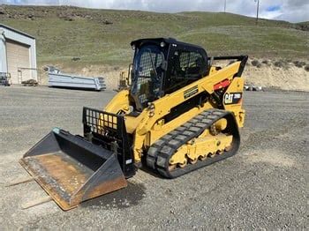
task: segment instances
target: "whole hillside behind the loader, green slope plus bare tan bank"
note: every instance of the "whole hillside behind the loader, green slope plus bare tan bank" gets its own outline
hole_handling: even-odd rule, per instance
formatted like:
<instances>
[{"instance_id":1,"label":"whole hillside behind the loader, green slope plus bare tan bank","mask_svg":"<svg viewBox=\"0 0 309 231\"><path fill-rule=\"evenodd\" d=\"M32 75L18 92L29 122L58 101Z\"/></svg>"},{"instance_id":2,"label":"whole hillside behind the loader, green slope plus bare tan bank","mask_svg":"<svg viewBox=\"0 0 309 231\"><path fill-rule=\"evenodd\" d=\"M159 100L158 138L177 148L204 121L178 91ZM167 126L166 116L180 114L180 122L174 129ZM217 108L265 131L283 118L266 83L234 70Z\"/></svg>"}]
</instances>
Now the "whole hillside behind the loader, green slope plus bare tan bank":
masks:
<instances>
[{"instance_id":1,"label":"whole hillside behind the loader, green slope plus bare tan bank","mask_svg":"<svg viewBox=\"0 0 309 231\"><path fill-rule=\"evenodd\" d=\"M249 55L248 84L309 91L308 22L260 19L256 26L255 19L230 13L0 5L0 23L36 37L41 70L51 64L104 76L109 89L117 87L119 71L132 62L132 40L173 37L201 45L209 56ZM43 71L39 76L46 84Z\"/></svg>"}]
</instances>

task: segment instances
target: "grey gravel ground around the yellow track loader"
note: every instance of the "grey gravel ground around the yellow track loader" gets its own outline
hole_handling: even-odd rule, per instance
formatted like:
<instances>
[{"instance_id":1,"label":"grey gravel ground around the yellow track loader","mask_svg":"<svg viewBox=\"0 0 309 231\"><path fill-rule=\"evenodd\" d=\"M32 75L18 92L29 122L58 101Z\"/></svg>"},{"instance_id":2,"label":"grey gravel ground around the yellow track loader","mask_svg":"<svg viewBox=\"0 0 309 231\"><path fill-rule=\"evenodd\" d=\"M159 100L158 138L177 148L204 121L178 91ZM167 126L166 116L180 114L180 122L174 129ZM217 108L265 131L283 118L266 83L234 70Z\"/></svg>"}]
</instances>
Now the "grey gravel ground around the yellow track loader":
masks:
<instances>
[{"instance_id":1,"label":"grey gravel ground around the yellow track loader","mask_svg":"<svg viewBox=\"0 0 309 231\"><path fill-rule=\"evenodd\" d=\"M53 126L81 134L82 106L115 93L0 87L0 228L252 229L309 227L309 93L246 92L242 145L234 157L175 180L139 170L128 188L63 212L18 160Z\"/></svg>"}]
</instances>

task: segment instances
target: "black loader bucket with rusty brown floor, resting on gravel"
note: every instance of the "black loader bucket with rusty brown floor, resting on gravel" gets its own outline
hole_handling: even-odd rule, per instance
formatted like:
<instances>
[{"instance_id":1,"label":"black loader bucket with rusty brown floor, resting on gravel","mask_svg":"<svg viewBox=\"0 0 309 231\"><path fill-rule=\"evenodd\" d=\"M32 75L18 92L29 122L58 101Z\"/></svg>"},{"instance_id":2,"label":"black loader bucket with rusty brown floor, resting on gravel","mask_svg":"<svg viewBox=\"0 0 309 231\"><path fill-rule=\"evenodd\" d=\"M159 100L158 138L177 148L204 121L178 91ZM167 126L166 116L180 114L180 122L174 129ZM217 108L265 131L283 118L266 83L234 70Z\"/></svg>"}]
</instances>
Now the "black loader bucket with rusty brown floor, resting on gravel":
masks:
<instances>
[{"instance_id":1,"label":"black loader bucket with rusty brown floor, resting on gravel","mask_svg":"<svg viewBox=\"0 0 309 231\"><path fill-rule=\"evenodd\" d=\"M63 210L127 186L115 153L57 128L19 163Z\"/></svg>"}]
</instances>

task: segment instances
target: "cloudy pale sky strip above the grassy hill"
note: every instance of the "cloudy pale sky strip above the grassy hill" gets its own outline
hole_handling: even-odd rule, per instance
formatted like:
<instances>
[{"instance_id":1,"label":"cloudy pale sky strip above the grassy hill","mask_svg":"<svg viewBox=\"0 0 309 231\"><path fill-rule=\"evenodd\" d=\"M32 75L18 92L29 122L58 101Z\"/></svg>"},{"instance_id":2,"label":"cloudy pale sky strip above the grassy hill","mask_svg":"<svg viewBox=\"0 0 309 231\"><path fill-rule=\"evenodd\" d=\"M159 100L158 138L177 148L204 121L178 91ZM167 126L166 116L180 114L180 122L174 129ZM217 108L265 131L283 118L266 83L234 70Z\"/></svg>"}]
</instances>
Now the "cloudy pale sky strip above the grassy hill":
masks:
<instances>
[{"instance_id":1,"label":"cloudy pale sky strip above the grassy hill","mask_svg":"<svg viewBox=\"0 0 309 231\"><path fill-rule=\"evenodd\" d=\"M226 11L255 17L258 0L0 0L0 4L75 5L157 12ZM260 18L309 21L309 0L260 0Z\"/></svg>"}]
</instances>

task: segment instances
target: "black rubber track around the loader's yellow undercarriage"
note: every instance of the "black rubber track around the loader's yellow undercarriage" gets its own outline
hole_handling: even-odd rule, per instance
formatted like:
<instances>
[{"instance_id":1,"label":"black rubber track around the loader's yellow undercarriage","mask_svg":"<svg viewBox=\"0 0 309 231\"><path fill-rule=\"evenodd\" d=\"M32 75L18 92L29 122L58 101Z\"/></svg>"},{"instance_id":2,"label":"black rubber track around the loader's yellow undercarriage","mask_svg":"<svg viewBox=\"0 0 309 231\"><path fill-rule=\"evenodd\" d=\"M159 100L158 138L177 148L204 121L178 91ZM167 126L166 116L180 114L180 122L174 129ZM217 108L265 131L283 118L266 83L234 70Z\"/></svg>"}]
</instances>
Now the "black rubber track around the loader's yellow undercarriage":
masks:
<instances>
[{"instance_id":1,"label":"black rubber track around the loader's yellow undercarriage","mask_svg":"<svg viewBox=\"0 0 309 231\"><path fill-rule=\"evenodd\" d=\"M227 119L228 122L227 128L222 132L233 136L230 151L220 155L216 154L215 157L208 157L206 160L198 160L195 164L188 163L185 168L176 168L170 171L170 158L176 153L177 149L192 140L192 138L198 138L204 130L209 129L213 123L222 118ZM170 131L151 145L147 152L147 167L154 169L164 177L175 178L234 155L237 153L239 144L239 131L234 115L221 109L208 109L194 116L176 130Z\"/></svg>"}]
</instances>

